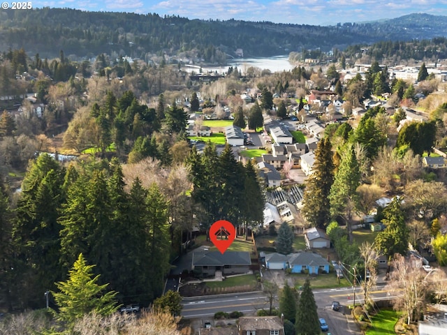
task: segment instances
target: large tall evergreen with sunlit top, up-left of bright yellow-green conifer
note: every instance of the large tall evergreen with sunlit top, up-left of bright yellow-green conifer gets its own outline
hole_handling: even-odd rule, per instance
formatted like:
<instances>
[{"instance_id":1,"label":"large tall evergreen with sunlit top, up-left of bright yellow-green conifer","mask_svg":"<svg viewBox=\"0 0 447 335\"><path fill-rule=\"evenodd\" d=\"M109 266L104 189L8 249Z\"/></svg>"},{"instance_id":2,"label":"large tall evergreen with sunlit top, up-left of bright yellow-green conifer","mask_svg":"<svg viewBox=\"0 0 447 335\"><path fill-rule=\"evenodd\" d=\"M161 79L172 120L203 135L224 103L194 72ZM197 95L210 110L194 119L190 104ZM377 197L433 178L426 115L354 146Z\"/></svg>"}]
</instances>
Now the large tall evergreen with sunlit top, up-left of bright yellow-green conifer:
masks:
<instances>
[{"instance_id":1,"label":"large tall evergreen with sunlit top, up-left of bright yellow-green conifer","mask_svg":"<svg viewBox=\"0 0 447 335\"><path fill-rule=\"evenodd\" d=\"M22 193L15 209L13 243L16 262L22 265L22 294L29 301L21 301L24 306L32 306L31 301L53 287L54 281L63 276L59 266L59 231L57 222L59 209L64 203L64 169L57 161L41 154L31 163L22 182ZM30 305L31 304L31 305Z\"/></svg>"}]
</instances>

